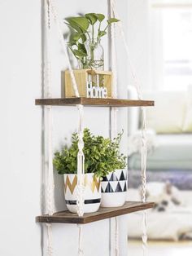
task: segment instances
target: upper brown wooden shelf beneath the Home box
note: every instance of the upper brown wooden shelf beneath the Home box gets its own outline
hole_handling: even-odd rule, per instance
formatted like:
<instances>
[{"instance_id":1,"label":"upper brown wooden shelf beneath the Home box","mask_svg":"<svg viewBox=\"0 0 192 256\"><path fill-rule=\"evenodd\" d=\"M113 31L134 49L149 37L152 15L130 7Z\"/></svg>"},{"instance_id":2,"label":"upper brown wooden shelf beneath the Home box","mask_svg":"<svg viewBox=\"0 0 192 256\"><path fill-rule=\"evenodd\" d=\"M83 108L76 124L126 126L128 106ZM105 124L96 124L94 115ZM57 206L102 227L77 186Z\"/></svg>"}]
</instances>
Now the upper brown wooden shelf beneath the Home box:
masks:
<instances>
[{"instance_id":1,"label":"upper brown wooden shelf beneath the Home box","mask_svg":"<svg viewBox=\"0 0 192 256\"><path fill-rule=\"evenodd\" d=\"M59 98L36 99L36 105L75 106L82 104L92 107L150 107L154 106L153 100L137 99L98 99L98 98Z\"/></svg>"}]
</instances>

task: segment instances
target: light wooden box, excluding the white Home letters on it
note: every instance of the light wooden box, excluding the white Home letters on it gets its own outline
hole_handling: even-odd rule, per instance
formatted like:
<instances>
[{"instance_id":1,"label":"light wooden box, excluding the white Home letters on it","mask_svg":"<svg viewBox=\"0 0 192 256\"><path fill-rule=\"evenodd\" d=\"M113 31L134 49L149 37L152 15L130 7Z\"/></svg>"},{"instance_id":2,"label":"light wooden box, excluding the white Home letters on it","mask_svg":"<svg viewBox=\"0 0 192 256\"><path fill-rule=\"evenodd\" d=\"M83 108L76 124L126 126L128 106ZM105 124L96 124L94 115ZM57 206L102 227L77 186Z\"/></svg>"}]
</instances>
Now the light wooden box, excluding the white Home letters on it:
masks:
<instances>
[{"instance_id":1,"label":"light wooden box, excluding the white Home letters on it","mask_svg":"<svg viewBox=\"0 0 192 256\"><path fill-rule=\"evenodd\" d=\"M107 98L112 98L112 73L111 71L100 71L93 69L75 69L73 73L81 97L87 97L87 82L92 81L99 86L107 88ZM72 79L68 70L64 71L64 96L65 98L76 97L72 88Z\"/></svg>"}]
</instances>

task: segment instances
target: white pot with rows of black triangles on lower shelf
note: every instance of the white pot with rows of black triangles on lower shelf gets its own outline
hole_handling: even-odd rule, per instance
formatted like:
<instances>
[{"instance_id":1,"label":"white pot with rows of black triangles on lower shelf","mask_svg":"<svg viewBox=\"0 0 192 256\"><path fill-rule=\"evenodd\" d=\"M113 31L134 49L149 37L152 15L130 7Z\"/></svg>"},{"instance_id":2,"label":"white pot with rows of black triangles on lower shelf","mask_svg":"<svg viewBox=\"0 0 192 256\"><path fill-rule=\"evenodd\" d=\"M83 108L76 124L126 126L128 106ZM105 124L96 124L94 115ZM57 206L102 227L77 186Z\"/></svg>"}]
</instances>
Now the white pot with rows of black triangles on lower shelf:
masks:
<instances>
[{"instance_id":1,"label":"white pot with rows of black triangles on lower shelf","mask_svg":"<svg viewBox=\"0 0 192 256\"><path fill-rule=\"evenodd\" d=\"M124 205L127 194L127 170L120 169L103 177L102 207L119 207Z\"/></svg>"}]
</instances>

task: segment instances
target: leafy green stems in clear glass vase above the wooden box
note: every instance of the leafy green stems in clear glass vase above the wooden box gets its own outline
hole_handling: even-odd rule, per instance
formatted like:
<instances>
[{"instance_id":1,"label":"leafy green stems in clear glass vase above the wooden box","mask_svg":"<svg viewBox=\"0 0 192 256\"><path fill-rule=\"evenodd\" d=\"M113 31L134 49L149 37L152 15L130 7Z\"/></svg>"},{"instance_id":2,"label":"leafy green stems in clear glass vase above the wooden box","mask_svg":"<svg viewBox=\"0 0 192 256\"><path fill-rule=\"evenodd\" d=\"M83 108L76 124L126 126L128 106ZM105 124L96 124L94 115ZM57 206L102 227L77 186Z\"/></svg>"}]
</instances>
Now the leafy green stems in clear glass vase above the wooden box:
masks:
<instances>
[{"instance_id":1,"label":"leafy green stems in clear glass vase above the wooden box","mask_svg":"<svg viewBox=\"0 0 192 256\"><path fill-rule=\"evenodd\" d=\"M100 41L107 34L108 26L119 20L116 18L107 20L104 29L102 29L102 24L105 15L100 13L87 13L65 20L71 29L68 47L81 64L81 68L103 69L103 47L100 45Z\"/></svg>"}]
</instances>

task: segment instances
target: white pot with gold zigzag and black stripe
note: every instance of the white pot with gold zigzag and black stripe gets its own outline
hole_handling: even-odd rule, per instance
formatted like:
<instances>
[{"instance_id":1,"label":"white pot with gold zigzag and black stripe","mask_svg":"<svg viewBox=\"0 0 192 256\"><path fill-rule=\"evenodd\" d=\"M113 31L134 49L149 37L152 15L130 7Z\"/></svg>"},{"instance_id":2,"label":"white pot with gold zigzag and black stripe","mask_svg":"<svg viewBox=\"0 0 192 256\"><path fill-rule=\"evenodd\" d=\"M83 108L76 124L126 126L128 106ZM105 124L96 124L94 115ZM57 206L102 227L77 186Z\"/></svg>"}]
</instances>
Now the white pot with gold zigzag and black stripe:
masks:
<instances>
[{"instance_id":1,"label":"white pot with gold zigzag and black stripe","mask_svg":"<svg viewBox=\"0 0 192 256\"><path fill-rule=\"evenodd\" d=\"M64 194L68 210L76 213L77 175L64 174ZM84 213L94 213L101 204L101 182L94 174L85 174L84 177Z\"/></svg>"}]
</instances>

